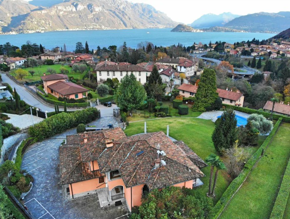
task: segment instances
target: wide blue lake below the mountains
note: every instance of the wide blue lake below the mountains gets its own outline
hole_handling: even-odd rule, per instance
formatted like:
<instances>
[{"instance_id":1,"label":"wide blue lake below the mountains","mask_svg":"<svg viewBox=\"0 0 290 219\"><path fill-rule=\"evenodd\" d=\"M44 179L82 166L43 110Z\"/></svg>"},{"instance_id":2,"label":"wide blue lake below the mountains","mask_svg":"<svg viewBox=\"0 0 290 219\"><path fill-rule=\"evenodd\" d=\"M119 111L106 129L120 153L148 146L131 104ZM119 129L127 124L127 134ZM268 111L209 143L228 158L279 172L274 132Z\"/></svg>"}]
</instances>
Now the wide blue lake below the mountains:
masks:
<instances>
[{"instance_id":1,"label":"wide blue lake below the mountains","mask_svg":"<svg viewBox=\"0 0 290 219\"><path fill-rule=\"evenodd\" d=\"M96 49L97 46L108 47L110 45L120 46L124 41L128 47L136 48L141 41L150 41L157 46L170 46L181 43L191 46L194 42L208 44L209 41L225 41L234 43L256 38L258 40L268 39L275 34L271 33L245 33L245 32L170 32L167 29L122 29L122 30L76 30L76 31L51 31L44 33L26 33L16 35L0 35L0 44L10 42L21 47L26 41L41 44L47 49L62 47L66 44L67 51L75 50L76 42L85 44L89 48Z\"/></svg>"}]
</instances>

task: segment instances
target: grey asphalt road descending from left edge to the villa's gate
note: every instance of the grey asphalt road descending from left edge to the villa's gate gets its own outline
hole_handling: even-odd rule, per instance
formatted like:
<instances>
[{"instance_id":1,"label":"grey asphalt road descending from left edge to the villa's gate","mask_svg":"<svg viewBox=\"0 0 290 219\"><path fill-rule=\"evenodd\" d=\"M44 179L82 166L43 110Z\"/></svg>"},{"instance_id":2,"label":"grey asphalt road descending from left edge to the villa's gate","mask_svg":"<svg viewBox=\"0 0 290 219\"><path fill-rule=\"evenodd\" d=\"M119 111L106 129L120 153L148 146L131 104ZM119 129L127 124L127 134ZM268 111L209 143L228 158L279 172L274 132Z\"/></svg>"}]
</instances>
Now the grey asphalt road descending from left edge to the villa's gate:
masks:
<instances>
[{"instance_id":1,"label":"grey asphalt road descending from left edge to the villa's gate","mask_svg":"<svg viewBox=\"0 0 290 219\"><path fill-rule=\"evenodd\" d=\"M47 105L44 105L42 102L40 102L38 99L36 99L31 93L29 93L24 86L20 86L16 84L12 79L10 79L6 74L1 74L2 81L4 83L10 84L12 89L14 87L16 88L16 91L18 95L20 96L20 99L25 101L27 104L37 107L41 109L42 111L47 112L53 112L54 107L50 107ZM111 107L105 107L103 105L96 106L101 111L101 116L113 116L113 108L115 108L116 105L112 105ZM68 109L68 111L75 111L75 110L81 110L81 109Z\"/></svg>"}]
</instances>

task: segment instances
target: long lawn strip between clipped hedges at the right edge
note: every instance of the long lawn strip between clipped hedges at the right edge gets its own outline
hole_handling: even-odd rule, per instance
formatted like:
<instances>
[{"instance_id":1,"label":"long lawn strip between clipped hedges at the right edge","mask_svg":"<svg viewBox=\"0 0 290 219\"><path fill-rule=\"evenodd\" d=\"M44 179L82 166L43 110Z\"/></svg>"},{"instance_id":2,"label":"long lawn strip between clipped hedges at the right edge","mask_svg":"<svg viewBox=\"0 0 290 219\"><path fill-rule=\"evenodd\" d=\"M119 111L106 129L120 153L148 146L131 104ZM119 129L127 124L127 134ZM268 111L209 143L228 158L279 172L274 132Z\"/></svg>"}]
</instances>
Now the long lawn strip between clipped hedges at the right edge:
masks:
<instances>
[{"instance_id":1,"label":"long lawn strip between clipped hedges at the right edge","mask_svg":"<svg viewBox=\"0 0 290 219\"><path fill-rule=\"evenodd\" d=\"M290 155L289 133L290 123L282 123L264 156L227 205L220 219L269 218ZM289 219L289 210L286 215L284 218Z\"/></svg>"}]
</instances>

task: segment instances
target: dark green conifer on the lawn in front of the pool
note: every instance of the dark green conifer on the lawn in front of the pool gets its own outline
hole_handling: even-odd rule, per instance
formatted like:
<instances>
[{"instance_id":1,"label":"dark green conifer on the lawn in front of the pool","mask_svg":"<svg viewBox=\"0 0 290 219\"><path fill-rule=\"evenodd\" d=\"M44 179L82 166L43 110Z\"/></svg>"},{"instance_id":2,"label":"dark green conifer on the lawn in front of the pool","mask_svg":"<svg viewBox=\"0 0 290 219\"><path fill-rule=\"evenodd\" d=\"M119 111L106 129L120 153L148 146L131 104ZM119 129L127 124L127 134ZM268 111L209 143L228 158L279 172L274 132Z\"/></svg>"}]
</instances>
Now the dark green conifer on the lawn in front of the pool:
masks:
<instances>
[{"instance_id":1,"label":"dark green conifer on the lawn in front of the pool","mask_svg":"<svg viewBox=\"0 0 290 219\"><path fill-rule=\"evenodd\" d=\"M212 141L219 153L231 148L237 140L237 119L232 109L226 110L215 122L215 130L212 134Z\"/></svg>"}]
</instances>

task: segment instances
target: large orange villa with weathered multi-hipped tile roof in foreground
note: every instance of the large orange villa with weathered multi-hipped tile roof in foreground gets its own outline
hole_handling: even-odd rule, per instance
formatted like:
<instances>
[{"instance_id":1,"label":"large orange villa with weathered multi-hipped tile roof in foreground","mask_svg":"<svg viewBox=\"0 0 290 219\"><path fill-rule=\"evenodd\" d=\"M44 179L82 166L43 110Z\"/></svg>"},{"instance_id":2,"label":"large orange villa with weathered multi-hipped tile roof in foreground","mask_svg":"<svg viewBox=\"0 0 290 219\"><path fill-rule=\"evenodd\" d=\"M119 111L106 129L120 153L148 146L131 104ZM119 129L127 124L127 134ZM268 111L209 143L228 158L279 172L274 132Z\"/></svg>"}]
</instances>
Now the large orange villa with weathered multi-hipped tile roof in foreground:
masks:
<instances>
[{"instance_id":1,"label":"large orange villa with weathered multi-hipped tile roof in foreground","mask_svg":"<svg viewBox=\"0 0 290 219\"><path fill-rule=\"evenodd\" d=\"M103 129L67 135L59 148L60 185L70 198L98 194L101 207L141 205L142 194L167 186L193 188L206 163L163 132L127 137Z\"/></svg>"}]
</instances>

